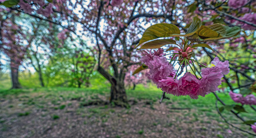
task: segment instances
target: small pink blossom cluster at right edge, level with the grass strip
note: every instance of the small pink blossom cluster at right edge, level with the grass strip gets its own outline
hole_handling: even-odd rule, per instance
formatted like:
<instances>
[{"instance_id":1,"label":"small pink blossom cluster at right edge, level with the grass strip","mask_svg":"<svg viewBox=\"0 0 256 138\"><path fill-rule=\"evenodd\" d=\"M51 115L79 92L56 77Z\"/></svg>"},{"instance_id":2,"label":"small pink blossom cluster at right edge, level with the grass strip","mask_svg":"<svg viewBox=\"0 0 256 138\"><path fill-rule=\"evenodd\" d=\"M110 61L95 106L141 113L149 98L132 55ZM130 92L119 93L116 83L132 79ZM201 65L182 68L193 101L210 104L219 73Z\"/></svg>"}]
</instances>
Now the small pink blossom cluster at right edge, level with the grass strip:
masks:
<instances>
[{"instance_id":1,"label":"small pink blossom cluster at right edge, level with the grass strip","mask_svg":"<svg viewBox=\"0 0 256 138\"><path fill-rule=\"evenodd\" d=\"M246 97L243 97L242 94L236 94L230 91L229 95L234 102L241 103L242 105L256 105L256 97L253 94L249 94L246 95Z\"/></svg>"}]
</instances>

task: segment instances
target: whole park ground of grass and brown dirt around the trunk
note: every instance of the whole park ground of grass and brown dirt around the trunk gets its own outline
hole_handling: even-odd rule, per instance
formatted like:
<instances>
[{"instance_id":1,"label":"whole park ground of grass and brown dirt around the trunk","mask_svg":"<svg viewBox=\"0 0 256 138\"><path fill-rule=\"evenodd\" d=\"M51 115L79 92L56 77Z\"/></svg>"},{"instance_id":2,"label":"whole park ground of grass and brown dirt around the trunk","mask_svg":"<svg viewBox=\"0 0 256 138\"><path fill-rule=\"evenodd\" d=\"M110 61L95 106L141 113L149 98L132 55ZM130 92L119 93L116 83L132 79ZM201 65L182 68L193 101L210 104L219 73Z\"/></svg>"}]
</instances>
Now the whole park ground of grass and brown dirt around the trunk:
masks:
<instances>
[{"instance_id":1,"label":"whole park ground of grass and brown dirt around the trunk","mask_svg":"<svg viewBox=\"0 0 256 138\"><path fill-rule=\"evenodd\" d=\"M138 86L127 90L130 108L84 106L93 100L107 101L109 91L107 87L1 89L0 137L251 137L225 124L213 94L197 100L168 95L170 100L159 104L160 90ZM228 94L218 95L234 104ZM226 110L223 114L236 127L251 131L233 114ZM254 114L242 115L253 120Z\"/></svg>"}]
</instances>

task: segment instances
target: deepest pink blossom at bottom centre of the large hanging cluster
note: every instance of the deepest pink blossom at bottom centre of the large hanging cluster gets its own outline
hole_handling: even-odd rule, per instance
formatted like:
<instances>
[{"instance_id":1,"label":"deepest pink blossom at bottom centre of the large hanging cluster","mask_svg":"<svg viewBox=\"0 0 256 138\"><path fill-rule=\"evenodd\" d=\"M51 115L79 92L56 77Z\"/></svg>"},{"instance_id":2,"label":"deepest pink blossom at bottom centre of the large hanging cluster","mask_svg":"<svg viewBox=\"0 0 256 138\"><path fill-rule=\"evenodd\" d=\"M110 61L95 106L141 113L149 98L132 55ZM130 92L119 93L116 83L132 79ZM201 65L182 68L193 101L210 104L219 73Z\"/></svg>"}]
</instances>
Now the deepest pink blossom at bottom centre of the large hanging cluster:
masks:
<instances>
[{"instance_id":1,"label":"deepest pink blossom at bottom centre of the large hanging cluster","mask_svg":"<svg viewBox=\"0 0 256 138\"><path fill-rule=\"evenodd\" d=\"M180 95L189 95L191 99L198 99L199 80L190 72L179 79Z\"/></svg>"}]
</instances>

